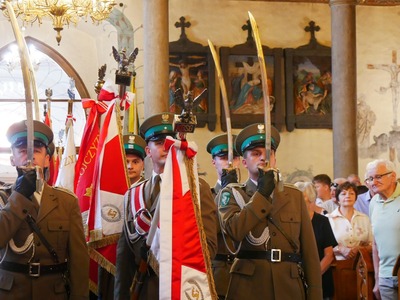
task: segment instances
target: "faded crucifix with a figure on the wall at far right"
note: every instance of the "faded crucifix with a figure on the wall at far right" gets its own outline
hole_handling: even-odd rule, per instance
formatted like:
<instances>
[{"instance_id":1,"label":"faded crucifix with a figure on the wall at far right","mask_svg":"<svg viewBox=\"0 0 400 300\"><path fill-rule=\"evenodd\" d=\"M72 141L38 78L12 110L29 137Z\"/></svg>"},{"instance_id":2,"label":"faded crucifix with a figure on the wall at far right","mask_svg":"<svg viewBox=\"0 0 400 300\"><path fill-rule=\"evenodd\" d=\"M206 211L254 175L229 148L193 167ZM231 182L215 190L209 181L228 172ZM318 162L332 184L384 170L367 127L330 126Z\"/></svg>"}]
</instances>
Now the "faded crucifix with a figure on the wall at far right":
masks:
<instances>
[{"instance_id":1,"label":"faded crucifix with a figure on the wall at far right","mask_svg":"<svg viewBox=\"0 0 400 300\"><path fill-rule=\"evenodd\" d=\"M397 51L392 51L392 63L391 64L368 64L368 69L383 70L389 72L390 83L388 87L380 87L380 92L385 93L387 90L392 91L392 109L393 109L393 126L392 128L396 131L400 131L400 127L397 124L397 109L399 106L400 96L400 85L398 81L398 75L400 73L400 65L397 64Z\"/></svg>"}]
</instances>

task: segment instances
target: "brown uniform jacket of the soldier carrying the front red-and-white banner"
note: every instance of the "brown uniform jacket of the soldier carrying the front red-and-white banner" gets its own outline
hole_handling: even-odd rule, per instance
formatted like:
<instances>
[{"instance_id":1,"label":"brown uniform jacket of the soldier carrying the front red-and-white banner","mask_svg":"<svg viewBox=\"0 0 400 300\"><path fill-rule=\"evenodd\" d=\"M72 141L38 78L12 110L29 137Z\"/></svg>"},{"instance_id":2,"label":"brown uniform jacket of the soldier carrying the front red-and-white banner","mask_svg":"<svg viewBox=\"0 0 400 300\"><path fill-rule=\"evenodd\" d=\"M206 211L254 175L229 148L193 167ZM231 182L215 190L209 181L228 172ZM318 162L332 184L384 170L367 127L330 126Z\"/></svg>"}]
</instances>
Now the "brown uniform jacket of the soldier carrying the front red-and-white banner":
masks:
<instances>
[{"instance_id":1,"label":"brown uniform jacket of the soldier carrying the front red-and-white banner","mask_svg":"<svg viewBox=\"0 0 400 300\"><path fill-rule=\"evenodd\" d=\"M152 180L146 180L144 182L135 185L144 184L143 192L144 199L146 202L146 208L150 211L151 215L154 214L157 207L158 199L154 200L154 203L148 201L152 190ZM210 257L213 258L217 252L217 212L214 204L214 198L211 193L210 186L201 178L199 178L200 186L200 207L201 217L203 220L204 231L207 238L207 246L210 253ZM117 262L116 262L116 274L115 274L115 285L114 285L114 299L126 300L129 299L129 288L132 284L134 274L139 266L141 260L141 248L143 243L146 242L146 237L137 237L132 233L135 233L133 225L134 216L130 206L130 201L127 201L128 195L132 188L130 188L125 195L124 205L124 216L125 224L121 234L121 237L117 245ZM131 241L129 235L134 237L135 240ZM159 280L158 276L148 267L148 276L144 280L144 284L141 289L140 299L158 299L159 295Z\"/></svg>"}]
</instances>

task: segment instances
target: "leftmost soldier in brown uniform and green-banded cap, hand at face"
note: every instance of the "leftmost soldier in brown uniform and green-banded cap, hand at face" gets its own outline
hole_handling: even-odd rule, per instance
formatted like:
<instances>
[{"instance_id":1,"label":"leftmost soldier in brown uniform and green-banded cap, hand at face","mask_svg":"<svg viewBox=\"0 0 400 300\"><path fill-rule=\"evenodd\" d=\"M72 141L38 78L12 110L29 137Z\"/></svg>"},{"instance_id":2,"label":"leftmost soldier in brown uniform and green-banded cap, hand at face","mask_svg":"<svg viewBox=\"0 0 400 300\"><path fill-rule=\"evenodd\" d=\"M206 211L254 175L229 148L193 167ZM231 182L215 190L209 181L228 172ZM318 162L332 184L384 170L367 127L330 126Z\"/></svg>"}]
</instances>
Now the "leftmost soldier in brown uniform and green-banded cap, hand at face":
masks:
<instances>
[{"instance_id":1,"label":"leftmost soldier in brown uniform and green-banded cap, hand at face","mask_svg":"<svg viewBox=\"0 0 400 300\"><path fill-rule=\"evenodd\" d=\"M78 199L44 182L53 132L42 122L33 125L32 169L24 169L26 121L7 131L18 178L0 210L0 299L65 300L68 294L69 299L87 299L89 255Z\"/></svg>"}]
</instances>

